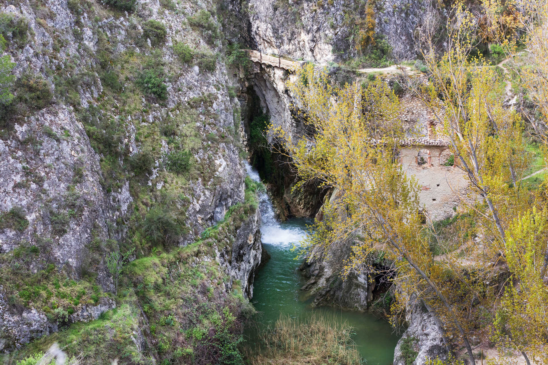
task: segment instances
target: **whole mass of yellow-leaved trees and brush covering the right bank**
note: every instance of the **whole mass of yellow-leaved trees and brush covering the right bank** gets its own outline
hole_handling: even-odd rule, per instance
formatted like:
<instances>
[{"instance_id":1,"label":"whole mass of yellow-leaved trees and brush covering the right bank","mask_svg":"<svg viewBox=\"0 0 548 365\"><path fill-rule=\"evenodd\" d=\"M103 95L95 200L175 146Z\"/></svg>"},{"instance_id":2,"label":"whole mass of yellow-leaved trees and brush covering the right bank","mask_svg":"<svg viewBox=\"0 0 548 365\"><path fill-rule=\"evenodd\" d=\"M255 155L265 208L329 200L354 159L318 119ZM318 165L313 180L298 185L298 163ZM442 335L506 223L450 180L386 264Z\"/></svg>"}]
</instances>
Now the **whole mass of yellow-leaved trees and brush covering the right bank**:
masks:
<instances>
[{"instance_id":1,"label":"whole mass of yellow-leaved trees and brush covering the right bank","mask_svg":"<svg viewBox=\"0 0 548 365\"><path fill-rule=\"evenodd\" d=\"M505 354L518 354L541 364L548 362L548 193L545 183L532 187L522 179L540 163L538 152L530 152L531 141L541 144L544 165L548 150L548 5L499 5L486 4L484 28L463 2L453 5L447 25L427 18L419 47L428 77L404 77L406 95L420 100L444 126L439 133L469 182L454 198L458 213L471 222L461 224L451 242L437 242L433 250L425 234L439 224L430 221L420 202L421 186L399 163L399 144L406 138L402 104L386 82L376 80L363 90L339 87L326 72L306 67L290 90L295 114L314 132L300 140L281 128L271 133L300 178L339 192L326 200L323 218L301 246L304 256L317 258L353 239L343 270L349 275L374 273L370 256L382 251L396 270L393 323L415 296L442 326L450 350L464 352L469 363L476 363L470 338L479 336L501 354L490 361L507 363ZM508 11L513 18L505 18ZM443 49L436 43L441 26L448 32ZM533 67L520 74L534 121L527 119L530 112L507 105L508 76L479 52L483 37L496 38L506 54L526 45L534 55ZM527 123L533 128L526 129Z\"/></svg>"}]
</instances>

